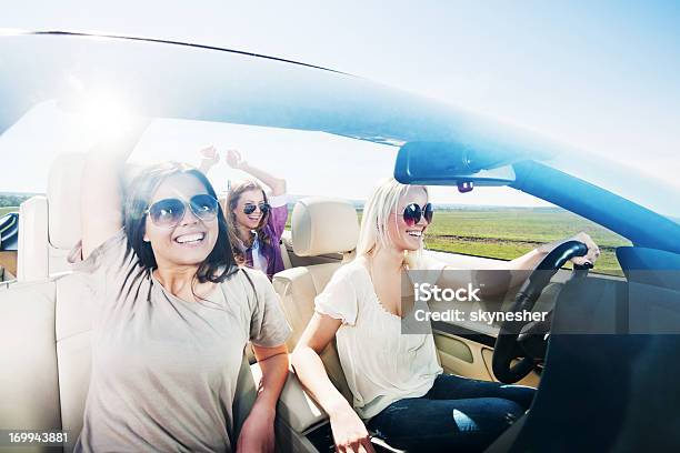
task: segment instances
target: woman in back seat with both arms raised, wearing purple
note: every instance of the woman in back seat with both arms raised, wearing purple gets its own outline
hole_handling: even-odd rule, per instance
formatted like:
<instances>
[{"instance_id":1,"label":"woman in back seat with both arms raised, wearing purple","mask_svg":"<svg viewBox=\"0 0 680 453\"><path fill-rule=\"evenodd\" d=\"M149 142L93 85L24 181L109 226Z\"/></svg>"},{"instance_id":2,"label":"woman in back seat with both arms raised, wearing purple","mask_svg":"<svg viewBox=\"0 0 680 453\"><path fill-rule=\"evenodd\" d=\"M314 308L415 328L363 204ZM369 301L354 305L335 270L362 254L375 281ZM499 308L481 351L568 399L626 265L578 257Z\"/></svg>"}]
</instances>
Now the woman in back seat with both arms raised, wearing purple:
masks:
<instances>
[{"instance_id":1,"label":"woman in back seat with both arms raised, wearing purple","mask_svg":"<svg viewBox=\"0 0 680 453\"><path fill-rule=\"evenodd\" d=\"M219 155L214 147L201 150L201 154L200 169L207 173L219 161ZM247 180L232 185L227 195L227 221L237 260L261 270L271 280L283 270L280 243L288 219L286 180L249 165L236 150L227 151L227 163L257 178L271 190L267 194L259 182Z\"/></svg>"}]
</instances>

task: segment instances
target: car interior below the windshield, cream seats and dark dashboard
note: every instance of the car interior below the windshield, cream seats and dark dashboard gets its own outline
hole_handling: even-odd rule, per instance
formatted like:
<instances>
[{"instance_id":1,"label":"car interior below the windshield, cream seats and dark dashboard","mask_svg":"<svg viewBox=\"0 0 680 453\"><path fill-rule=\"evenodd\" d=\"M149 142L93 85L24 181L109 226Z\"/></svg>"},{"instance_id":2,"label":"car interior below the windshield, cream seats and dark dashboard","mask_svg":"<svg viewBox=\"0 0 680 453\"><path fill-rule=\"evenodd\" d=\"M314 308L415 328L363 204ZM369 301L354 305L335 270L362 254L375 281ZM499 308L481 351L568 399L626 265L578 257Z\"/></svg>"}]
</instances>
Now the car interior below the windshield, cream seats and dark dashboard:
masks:
<instances>
[{"instance_id":1,"label":"car interior below the windshield, cream seats and dark dashboard","mask_svg":"<svg viewBox=\"0 0 680 453\"><path fill-rule=\"evenodd\" d=\"M87 296L79 283L81 276L71 273L67 262L69 251L79 241L82 162L83 154L61 155L50 170L47 194L21 204L17 279L4 282L0 290L0 352L6 363L0 373L0 425L69 430L72 441L82 427L90 366ZM314 296L332 273L352 259L358 233L358 215L350 201L317 197L296 203L290 232L281 244L288 269L276 274L272 282L293 329L288 341L290 350L313 313ZM490 259L429 253L452 266L492 266ZM572 430L583 433L578 437L582 442L576 443L583 449L596 445L593 440L601 441L597 444L601 451L611 450L617 443L642 445L642 437L627 434L640 425L666 435L669 445L673 444L676 435L667 432L666 424L652 423L653 417L649 416L650 411L668 415L668 395L653 393L653 397L642 397L632 390L672 385L668 381L678 365L669 360L669 354L674 354L679 346L678 335L644 333L659 322L669 332L677 330L680 316L672 305L672 301L679 300L677 280L649 270L658 263L678 270L678 255L649 248L620 248L618 256L626 279L601 274L574 279L572 272L561 269L542 289L537 306L554 308L549 353L544 363L519 381L539 386L540 391L529 413L490 451L526 451L559 440L573 446L574 439L569 434ZM636 296L632 291L644 296ZM631 304L633 299L646 304ZM508 310L512 300L513 294L506 294L502 300L484 300L483 306L491 310L500 304ZM643 315L633 318L631 310ZM591 322L583 323L584 319ZM493 353L499 330L482 328L433 323L439 360L447 373L497 380ZM630 332L639 334L629 335ZM259 376L252 353L244 358L234 402L234 414L240 414L237 431L254 401L254 382ZM351 399L332 344L322 360L333 384ZM641 364L647 372L640 371ZM649 368L663 372L651 373ZM584 400L589 403L583 404ZM582 416L573 416L574 413ZM597 425L598 432L609 430L619 434L596 435L590 422L593 417L606 420ZM622 430L624 426L630 430ZM333 450L327 415L306 394L292 371L279 402L277 442L281 451ZM397 451L380 439L373 442L382 451ZM70 443L64 451L72 447Z\"/></svg>"}]
</instances>

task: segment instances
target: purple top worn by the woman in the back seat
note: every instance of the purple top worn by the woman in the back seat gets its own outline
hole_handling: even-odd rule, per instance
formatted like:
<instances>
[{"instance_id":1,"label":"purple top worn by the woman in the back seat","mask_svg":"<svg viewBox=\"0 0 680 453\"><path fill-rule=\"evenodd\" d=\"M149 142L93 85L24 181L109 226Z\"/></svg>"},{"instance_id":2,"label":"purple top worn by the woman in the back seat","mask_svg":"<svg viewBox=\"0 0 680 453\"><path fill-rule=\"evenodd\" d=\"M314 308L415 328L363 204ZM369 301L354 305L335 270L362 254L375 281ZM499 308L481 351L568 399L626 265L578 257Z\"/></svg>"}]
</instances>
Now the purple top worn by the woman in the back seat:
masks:
<instances>
[{"instance_id":1,"label":"purple top worn by the woman in the back seat","mask_svg":"<svg viewBox=\"0 0 680 453\"><path fill-rule=\"evenodd\" d=\"M253 245L246 249L246 265L253 269L260 269L267 274L269 280L272 279L273 274L283 270L283 258L281 256L281 235L286 229L286 220L288 220L288 204L286 203L286 195L269 197L269 204L271 211L269 211L269 219L263 228L264 234L270 239L270 243L267 244L257 238L253 241ZM256 255L259 255L259 263L253 263L253 250ZM266 264L264 264L266 263Z\"/></svg>"}]
</instances>

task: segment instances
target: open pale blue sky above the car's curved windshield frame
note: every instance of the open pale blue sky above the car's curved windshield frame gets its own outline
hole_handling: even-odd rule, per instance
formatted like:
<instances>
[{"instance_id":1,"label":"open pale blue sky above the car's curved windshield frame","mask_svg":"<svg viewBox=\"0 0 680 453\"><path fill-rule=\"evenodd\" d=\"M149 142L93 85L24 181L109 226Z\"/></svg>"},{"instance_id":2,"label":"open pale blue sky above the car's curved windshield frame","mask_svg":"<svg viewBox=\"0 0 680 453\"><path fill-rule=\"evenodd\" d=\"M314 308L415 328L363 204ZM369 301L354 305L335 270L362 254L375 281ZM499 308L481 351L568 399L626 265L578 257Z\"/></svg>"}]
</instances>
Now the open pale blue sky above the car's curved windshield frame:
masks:
<instances>
[{"instance_id":1,"label":"open pale blue sky above the car's curved windshield frame","mask_svg":"<svg viewBox=\"0 0 680 453\"><path fill-rule=\"evenodd\" d=\"M359 74L680 173L680 2L12 3L0 27L187 40Z\"/></svg>"}]
</instances>

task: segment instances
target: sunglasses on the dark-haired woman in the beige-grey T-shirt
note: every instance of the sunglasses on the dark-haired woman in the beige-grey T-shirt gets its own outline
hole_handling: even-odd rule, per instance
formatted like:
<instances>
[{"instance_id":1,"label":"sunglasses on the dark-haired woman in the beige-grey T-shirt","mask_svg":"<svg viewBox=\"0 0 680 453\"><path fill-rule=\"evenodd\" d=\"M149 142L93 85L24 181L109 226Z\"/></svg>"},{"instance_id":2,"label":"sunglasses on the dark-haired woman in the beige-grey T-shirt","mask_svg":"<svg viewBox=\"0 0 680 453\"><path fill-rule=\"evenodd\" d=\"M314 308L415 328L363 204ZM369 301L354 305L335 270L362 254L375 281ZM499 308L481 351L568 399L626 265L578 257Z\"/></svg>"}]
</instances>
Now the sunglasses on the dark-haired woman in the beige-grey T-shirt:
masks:
<instances>
[{"instance_id":1,"label":"sunglasses on the dark-haired woman in the beige-grey T-shirt","mask_svg":"<svg viewBox=\"0 0 680 453\"><path fill-rule=\"evenodd\" d=\"M144 211L144 214L149 214L157 226L172 228L184 217L187 204L193 215L203 222L210 222L217 217L218 201L207 193L191 197L189 203L180 199L157 201Z\"/></svg>"}]
</instances>

